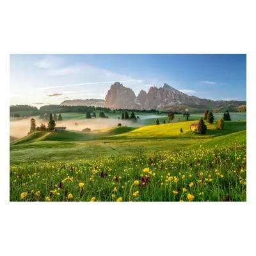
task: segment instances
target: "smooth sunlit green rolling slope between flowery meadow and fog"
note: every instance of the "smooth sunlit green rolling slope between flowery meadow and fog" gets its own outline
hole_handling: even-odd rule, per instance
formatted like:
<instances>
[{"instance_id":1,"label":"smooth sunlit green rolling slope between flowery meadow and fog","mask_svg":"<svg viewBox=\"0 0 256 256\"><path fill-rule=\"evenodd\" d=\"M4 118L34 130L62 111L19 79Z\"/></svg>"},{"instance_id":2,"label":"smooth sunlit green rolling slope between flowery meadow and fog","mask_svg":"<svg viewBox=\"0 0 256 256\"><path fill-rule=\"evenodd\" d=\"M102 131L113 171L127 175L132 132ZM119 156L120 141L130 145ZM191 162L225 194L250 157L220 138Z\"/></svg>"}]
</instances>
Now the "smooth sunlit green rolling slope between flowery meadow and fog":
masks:
<instances>
[{"instance_id":1,"label":"smooth sunlit green rolling slope between flowery meadow and fog","mask_svg":"<svg viewBox=\"0 0 256 256\"><path fill-rule=\"evenodd\" d=\"M207 125L207 134L189 131L189 124L150 125L138 129L115 127L93 132L35 132L10 143L10 161L83 159L176 148L231 145L246 141L246 122L225 122L223 131ZM180 127L183 129L181 133ZM234 133L235 132L235 133ZM232 134L233 133L233 134ZM35 150L36 149L36 150Z\"/></svg>"}]
</instances>

